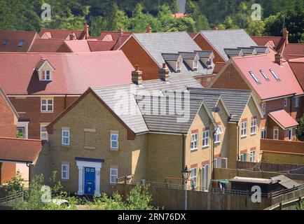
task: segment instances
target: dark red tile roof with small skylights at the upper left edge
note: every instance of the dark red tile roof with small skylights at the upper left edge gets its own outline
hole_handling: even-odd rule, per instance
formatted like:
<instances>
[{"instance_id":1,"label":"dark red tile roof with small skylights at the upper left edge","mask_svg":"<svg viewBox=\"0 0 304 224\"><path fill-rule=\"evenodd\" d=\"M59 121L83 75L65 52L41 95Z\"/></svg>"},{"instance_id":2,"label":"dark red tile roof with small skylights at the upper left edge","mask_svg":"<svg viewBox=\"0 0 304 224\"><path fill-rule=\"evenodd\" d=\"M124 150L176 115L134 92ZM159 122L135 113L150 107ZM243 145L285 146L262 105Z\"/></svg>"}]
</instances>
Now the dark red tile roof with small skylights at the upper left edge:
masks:
<instances>
[{"instance_id":1,"label":"dark red tile roof with small skylights at the upper left edge","mask_svg":"<svg viewBox=\"0 0 304 224\"><path fill-rule=\"evenodd\" d=\"M35 38L39 36L34 31L0 31L0 52L27 52ZM22 40L22 47L18 47Z\"/></svg>"}]
</instances>

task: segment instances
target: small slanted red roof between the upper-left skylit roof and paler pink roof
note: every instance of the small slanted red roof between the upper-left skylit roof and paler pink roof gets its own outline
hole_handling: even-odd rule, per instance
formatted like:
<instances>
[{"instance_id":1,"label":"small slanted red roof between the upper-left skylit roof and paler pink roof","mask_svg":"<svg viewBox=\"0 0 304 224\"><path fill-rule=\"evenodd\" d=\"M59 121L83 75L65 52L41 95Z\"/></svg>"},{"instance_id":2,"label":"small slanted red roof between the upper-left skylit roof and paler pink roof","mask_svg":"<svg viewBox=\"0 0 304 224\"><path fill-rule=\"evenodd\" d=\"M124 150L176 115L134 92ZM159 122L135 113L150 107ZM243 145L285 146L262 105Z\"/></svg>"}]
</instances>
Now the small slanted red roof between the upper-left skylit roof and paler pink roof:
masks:
<instances>
[{"instance_id":1,"label":"small slanted red roof between the upper-left skylit roof and paler pink roof","mask_svg":"<svg viewBox=\"0 0 304 224\"><path fill-rule=\"evenodd\" d=\"M62 43L60 39L36 38L29 52L56 52Z\"/></svg>"}]
</instances>

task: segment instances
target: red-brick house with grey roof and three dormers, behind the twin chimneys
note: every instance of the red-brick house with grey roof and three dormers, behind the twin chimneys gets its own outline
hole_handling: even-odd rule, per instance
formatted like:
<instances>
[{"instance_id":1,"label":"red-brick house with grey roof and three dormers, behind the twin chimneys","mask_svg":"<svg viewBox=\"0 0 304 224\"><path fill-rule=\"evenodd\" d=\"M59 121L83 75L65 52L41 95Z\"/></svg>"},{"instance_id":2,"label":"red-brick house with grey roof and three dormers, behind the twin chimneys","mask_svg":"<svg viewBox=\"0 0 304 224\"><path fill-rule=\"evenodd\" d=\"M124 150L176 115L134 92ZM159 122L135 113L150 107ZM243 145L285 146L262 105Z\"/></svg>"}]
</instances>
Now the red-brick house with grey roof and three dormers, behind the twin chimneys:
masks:
<instances>
[{"instance_id":1,"label":"red-brick house with grey roof and three dormers, behind the twin chimneys","mask_svg":"<svg viewBox=\"0 0 304 224\"><path fill-rule=\"evenodd\" d=\"M201 50L186 32L133 33L119 49L141 67L143 80L157 79L164 62L170 74L188 73L199 83L214 69L213 52Z\"/></svg>"}]
</instances>

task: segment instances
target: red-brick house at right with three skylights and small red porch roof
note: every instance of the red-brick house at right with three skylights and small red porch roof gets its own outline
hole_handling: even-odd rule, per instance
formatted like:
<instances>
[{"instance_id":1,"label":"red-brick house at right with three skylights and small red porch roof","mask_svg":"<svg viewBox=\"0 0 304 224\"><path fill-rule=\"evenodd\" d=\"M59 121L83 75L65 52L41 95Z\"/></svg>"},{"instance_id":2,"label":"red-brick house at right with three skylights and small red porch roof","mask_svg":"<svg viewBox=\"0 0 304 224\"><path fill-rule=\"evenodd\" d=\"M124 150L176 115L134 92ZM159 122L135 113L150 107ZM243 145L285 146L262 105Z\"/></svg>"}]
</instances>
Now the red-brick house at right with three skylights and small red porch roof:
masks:
<instances>
[{"instance_id":1,"label":"red-brick house at right with three skylights and small red porch roof","mask_svg":"<svg viewBox=\"0 0 304 224\"><path fill-rule=\"evenodd\" d=\"M252 90L263 109L263 139L294 140L303 114L303 90L288 62L267 55L233 57L211 84L214 88ZM285 112L286 111L286 112Z\"/></svg>"}]
</instances>

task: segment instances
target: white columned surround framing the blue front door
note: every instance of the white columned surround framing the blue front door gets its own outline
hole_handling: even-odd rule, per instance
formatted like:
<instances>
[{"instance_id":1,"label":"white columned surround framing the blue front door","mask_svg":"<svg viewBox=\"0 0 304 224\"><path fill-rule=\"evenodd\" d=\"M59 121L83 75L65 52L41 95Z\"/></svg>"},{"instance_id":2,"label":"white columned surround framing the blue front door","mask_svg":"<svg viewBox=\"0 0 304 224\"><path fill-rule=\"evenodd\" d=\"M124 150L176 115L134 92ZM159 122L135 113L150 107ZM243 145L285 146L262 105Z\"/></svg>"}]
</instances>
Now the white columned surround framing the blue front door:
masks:
<instances>
[{"instance_id":1,"label":"white columned surround framing the blue front door","mask_svg":"<svg viewBox=\"0 0 304 224\"><path fill-rule=\"evenodd\" d=\"M96 196L100 195L100 169L102 168L104 160L89 159L89 158L76 158L76 165L78 167L78 192L77 195L84 193L84 167L95 168L95 192Z\"/></svg>"}]
</instances>

